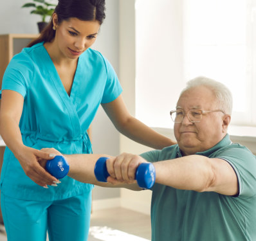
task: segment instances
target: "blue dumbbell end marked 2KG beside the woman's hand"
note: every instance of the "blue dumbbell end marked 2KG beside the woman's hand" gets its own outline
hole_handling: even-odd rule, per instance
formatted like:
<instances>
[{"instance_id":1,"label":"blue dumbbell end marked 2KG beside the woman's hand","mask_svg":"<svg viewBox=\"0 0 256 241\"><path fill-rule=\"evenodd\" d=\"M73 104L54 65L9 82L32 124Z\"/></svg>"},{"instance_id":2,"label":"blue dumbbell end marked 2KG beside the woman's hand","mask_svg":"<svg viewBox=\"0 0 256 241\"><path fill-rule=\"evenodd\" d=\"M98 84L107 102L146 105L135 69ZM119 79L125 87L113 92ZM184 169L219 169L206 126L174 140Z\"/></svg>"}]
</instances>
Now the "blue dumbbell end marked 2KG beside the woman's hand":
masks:
<instances>
[{"instance_id":1,"label":"blue dumbbell end marked 2KG beside the woman's hand","mask_svg":"<svg viewBox=\"0 0 256 241\"><path fill-rule=\"evenodd\" d=\"M63 178L68 174L69 164L64 156L55 156L46 163L46 170L57 179Z\"/></svg>"}]
</instances>

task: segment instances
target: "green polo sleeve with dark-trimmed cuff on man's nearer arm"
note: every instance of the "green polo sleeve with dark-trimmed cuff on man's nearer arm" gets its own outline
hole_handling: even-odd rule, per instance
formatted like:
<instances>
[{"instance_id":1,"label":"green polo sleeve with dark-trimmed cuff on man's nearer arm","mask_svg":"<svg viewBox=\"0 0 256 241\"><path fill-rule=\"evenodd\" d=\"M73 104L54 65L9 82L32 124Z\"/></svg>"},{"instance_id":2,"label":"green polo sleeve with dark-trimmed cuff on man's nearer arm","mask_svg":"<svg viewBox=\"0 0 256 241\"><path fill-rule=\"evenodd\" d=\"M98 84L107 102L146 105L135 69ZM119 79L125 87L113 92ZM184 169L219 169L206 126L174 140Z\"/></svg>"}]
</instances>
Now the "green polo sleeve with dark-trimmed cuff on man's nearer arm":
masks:
<instances>
[{"instance_id":1,"label":"green polo sleeve with dark-trimmed cuff on man's nearer arm","mask_svg":"<svg viewBox=\"0 0 256 241\"><path fill-rule=\"evenodd\" d=\"M237 145L224 150L217 158L224 159L235 170L239 183L237 196L252 197L256 194L256 159L250 150Z\"/></svg>"}]
</instances>

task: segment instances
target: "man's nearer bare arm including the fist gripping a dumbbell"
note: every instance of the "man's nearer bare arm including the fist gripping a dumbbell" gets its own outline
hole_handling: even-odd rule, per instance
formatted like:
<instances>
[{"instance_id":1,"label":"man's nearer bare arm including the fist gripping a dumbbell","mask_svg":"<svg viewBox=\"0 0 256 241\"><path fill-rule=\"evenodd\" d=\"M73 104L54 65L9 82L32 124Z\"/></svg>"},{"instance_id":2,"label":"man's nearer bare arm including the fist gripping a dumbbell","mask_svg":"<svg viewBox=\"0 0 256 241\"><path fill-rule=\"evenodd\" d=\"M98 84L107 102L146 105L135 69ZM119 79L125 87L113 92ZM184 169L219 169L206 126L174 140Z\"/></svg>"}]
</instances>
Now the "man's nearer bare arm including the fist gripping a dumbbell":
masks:
<instances>
[{"instance_id":1,"label":"man's nearer bare arm including the fist gripping a dumbbell","mask_svg":"<svg viewBox=\"0 0 256 241\"><path fill-rule=\"evenodd\" d=\"M134 179L134 173L140 163L140 156L122 154L107 161L107 170L111 177L108 181ZM156 169L156 183L172 186L181 190L196 192L217 192L223 195L236 195L239 191L237 175L232 166L218 158L191 155L177 159L153 163Z\"/></svg>"}]
</instances>

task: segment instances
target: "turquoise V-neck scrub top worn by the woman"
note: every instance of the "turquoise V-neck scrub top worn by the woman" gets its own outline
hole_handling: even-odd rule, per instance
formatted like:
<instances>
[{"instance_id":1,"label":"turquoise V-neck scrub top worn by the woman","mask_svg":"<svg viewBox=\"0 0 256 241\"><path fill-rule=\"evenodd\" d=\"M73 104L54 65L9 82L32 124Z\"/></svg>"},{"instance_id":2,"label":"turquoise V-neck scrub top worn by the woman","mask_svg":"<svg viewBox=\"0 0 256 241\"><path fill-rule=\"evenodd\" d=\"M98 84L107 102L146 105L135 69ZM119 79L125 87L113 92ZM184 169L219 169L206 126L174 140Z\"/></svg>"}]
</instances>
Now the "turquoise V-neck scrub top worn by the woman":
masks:
<instances>
[{"instance_id":1,"label":"turquoise V-neck scrub top worn by the woman","mask_svg":"<svg viewBox=\"0 0 256 241\"><path fill-rule=\"evenodd\" d=\"M12 58L3 76L2 90L24 97L19 123L24 145L40 150L56 148L62 154L91 153L87 129L100 103L109 103L122 87L109 62L93 49L78 58L70 96L66 93L43 42L24 48ZM93 185L64 177L57 187L35 184L8 147L1 172L1 192L16 199L53 201L90 192Z\"/></svg>"}]
</instances>

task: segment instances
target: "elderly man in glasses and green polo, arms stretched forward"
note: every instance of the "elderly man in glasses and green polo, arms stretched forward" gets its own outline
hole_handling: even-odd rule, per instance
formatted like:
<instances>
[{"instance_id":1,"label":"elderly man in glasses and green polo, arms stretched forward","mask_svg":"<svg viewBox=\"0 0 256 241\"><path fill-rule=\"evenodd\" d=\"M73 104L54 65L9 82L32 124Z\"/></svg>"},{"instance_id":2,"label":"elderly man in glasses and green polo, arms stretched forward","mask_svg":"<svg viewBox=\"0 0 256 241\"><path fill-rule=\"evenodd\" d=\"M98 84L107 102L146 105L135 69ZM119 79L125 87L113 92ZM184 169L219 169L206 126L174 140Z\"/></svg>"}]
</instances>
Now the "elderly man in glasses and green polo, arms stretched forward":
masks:
<instances>
[{"instance_id":1,"label":"elderly man in glasses and green polo, arms stretched forward","mask_svg":"<svg viewBox=\"0 0 256 241\"><path fill-rule=\"evenodd\" d=\"M190 80L170 112L177 145L107 160L111 176L103 186L133 190L141 190L134 183L138 165L154 163L152 240L256 240L255 156L230 141L231 112L232 96L223 84L204 77ZM67 156L68 175L100 184L93 175L98 157Z\"/></svg>"}]
</instances>

